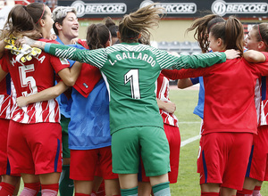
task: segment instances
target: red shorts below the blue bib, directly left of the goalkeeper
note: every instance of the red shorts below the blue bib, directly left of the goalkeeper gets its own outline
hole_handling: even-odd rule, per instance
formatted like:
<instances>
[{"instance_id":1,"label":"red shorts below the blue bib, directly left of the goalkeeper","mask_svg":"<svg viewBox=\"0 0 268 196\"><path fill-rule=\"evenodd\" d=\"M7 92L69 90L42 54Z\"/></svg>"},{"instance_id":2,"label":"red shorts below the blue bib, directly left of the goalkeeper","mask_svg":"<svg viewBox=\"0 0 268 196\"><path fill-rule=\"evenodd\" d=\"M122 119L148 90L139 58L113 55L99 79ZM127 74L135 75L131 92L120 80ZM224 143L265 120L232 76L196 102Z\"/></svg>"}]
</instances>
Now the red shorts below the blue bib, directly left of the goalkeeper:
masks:
<instances>
[{"instance_id":1,"label":"red shorts below the blue bib, directly left of the goalkeeper","mask_svg":"<svg viewBox=\"0 0 268 196\"><path fill-rule=\"evenodd\" d=\"M100 168L101 176L105 180L118 178L118 175L112 172L111 146L92 150L71 150L71 179L93 181L97 167Z\"/></svg>"}]
</instances>

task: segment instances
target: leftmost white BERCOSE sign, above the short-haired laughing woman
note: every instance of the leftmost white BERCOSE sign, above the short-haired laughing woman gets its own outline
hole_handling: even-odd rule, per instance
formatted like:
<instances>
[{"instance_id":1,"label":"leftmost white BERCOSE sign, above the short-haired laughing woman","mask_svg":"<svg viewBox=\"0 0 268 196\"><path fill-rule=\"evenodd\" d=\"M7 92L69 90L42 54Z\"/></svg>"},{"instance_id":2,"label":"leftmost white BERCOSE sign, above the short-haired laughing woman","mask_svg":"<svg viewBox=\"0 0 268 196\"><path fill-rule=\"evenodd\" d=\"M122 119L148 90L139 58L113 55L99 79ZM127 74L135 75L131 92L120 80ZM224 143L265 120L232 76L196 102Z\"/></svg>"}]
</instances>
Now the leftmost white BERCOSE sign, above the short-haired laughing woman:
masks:
<instances>
[{"instance_id":1,"label":"leftmost white BERCOSE sign, above the short-haired laughing woman","mask_svg":"<svg viewBox=\"0 0 268 196\"><path fill-rule=\"evenodd\" d=\"M85 14L124 14L127 12L127 5L124 3L85 4L82 1L75 1L71 6L76 8L78 17Z\"/></svg>"}]
</instances>

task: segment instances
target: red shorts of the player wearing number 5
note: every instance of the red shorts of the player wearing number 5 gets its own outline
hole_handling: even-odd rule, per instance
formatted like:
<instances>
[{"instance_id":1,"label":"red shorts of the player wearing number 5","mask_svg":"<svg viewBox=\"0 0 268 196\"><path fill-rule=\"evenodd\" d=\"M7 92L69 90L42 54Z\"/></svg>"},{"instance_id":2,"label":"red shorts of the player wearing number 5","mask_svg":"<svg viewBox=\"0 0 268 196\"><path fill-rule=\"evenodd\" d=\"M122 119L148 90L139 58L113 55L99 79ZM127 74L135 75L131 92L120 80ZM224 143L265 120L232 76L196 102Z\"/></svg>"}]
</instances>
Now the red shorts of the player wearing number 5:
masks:
<instances>
[{"instance_id":1,"label":"red shorts of the player wearing number 5","mask_svg":"<svg viewBox=\"0 0 268 196\"><path fill-rule=\"evenodd\" d=\"M59 123L10 121L7 153L14 173L62 172L62 127Z\"/></svg>"}]
</instances>

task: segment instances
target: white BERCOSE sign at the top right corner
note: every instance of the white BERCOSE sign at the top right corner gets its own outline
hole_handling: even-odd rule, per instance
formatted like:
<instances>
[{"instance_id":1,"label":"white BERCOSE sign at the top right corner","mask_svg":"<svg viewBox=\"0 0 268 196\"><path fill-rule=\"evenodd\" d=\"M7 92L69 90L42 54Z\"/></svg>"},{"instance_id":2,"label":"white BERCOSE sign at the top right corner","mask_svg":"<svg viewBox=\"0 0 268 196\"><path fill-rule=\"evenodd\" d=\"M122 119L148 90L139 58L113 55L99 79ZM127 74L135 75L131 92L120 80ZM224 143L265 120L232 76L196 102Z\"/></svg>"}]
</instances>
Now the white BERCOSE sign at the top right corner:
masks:
<instances>
[{"instance_id":1,"label":"white BERCOSE sign at the top right corner","mask_svg":"<svg viewBox=\"0 0 268 196\"><path fill-rule=\"evenodd\" d=\"M214 1L212 12L220 16L225 14L267 13L268 4L264 2L226 3L222 0Z\"/></svg>"}]
</instances>

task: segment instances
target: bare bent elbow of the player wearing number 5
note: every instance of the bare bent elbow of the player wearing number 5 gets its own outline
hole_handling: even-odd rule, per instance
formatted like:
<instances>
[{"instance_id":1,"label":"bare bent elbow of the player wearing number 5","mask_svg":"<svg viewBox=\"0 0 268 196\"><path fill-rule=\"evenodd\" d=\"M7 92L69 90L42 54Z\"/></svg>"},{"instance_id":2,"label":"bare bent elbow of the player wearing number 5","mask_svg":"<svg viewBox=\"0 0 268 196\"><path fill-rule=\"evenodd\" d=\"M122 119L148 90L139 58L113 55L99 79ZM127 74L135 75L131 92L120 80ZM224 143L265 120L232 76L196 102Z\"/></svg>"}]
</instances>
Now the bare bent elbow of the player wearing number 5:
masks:
<instances>
[{"instance_id":1,"label":"bare bent elbow of the player wearing number 5","mask_svg":"<svg viewBox=\"0 0 268 196\"><path fill-rule=\"evenodd\" d=\"M60 78L63 79L63 82L66 86L74 86L77 78L80 76L80 70L82 68L82 63L76 61L73 66L70 68L64 68L58 72Z\"/></svg>"}]
</instances>

